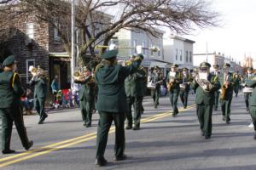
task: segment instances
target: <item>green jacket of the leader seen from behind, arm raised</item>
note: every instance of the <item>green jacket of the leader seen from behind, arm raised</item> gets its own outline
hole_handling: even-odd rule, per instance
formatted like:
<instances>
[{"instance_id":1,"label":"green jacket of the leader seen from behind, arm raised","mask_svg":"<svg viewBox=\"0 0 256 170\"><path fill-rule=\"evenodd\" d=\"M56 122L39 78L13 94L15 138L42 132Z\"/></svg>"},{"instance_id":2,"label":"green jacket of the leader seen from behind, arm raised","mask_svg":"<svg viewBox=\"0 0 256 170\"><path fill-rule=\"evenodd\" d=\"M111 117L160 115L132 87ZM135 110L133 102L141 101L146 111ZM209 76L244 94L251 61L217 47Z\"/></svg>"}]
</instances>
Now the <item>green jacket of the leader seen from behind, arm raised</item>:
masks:
<instances>
[{"instance_id":1,"label":"green jacket of the leader seen from behind, arm raised","mask_svg":"<svg viewBox=\"0 0 256 170\"><path fill-rule=\"evenodd\" d=\"M125 78L137 71L140 63L133 61L129 66L102 65L96 70L95 79L99 88L96 110L112 113L126 111Z\"/></svg>"}]
</instances>

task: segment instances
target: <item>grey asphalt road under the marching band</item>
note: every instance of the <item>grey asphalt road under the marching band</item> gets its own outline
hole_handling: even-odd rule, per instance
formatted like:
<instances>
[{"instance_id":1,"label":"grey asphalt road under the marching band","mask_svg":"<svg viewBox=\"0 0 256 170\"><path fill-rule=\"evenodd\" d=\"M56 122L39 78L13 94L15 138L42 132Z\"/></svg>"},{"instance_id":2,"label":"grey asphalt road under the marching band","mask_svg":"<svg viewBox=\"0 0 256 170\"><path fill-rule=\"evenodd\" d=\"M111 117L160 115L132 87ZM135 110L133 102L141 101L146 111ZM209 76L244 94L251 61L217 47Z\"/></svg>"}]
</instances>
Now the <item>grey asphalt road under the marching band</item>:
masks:
<instances>
[{"instance_id":1,"label":"grey asphalt road under the marching band","mask_svg":"<svg viewBox=\"0 0 256 170\"><path fill-rule=\"evenodd\" d=\"M15 127L12 149L19 153L0 157L0 168L9 170L90 170L90 169L256 169L256 141L243 95L234 98L231 123L222 121L221 113L214 111L212 139L203 139L195 114L195 95L189 96L189 108L172 117L168 97L160 98L154 109L152 99L144 100L145 113L139 131L125 131L128 159L113 161L114 128L110 131L105 153L107 167L95 167L96 126L84 128L79 110L49 113L43 125L38 116L25 116L27 133L34 140L33 150L25 152Z\"/></svg>"}]
</instances>

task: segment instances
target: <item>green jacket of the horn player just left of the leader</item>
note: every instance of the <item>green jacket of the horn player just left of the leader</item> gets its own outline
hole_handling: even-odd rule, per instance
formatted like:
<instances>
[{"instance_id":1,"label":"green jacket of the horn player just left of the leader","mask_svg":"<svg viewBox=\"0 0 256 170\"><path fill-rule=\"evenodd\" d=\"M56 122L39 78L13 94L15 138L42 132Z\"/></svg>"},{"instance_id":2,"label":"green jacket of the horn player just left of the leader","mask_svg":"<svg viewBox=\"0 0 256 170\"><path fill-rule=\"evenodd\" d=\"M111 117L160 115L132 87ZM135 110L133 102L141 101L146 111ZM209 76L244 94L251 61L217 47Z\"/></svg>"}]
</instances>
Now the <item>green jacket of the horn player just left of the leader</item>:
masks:
<instances>
[{"instance_id":1,"label":"green jacket of the horn player just left of the leader","mask_svg":"<svg viewBox=\"0 0 256 170\"><path fill-rule=\"evenodd\" d=\"M87 78L84 82L75 80L74 82L82 84L79 92L80 101L94 101L96 93L96 82L93 77Z\"/></svg>"}]
</instances>

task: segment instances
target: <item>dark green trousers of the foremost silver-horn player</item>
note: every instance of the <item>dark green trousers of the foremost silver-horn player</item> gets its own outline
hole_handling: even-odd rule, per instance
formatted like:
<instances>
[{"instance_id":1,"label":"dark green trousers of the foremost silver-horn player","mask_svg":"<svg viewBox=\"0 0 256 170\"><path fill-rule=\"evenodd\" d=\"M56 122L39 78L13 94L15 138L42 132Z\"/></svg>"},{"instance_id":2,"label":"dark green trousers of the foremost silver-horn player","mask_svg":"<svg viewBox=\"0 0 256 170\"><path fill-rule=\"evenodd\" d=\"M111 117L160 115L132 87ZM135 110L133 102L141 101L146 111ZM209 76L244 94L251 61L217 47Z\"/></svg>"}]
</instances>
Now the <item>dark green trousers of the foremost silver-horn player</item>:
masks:
<instances>
[{"instance_id":1,"label":"dark green trousers of the foremost silver-horn player","mask_svg":"<svg viewBox=\"0 0 256 170\"><path fill-rule=\"evenodd\" d=\"M212 135L212 105L197 105L196 113L200 123L201 132L206 136Z\"/></svg>"}]
</instances>

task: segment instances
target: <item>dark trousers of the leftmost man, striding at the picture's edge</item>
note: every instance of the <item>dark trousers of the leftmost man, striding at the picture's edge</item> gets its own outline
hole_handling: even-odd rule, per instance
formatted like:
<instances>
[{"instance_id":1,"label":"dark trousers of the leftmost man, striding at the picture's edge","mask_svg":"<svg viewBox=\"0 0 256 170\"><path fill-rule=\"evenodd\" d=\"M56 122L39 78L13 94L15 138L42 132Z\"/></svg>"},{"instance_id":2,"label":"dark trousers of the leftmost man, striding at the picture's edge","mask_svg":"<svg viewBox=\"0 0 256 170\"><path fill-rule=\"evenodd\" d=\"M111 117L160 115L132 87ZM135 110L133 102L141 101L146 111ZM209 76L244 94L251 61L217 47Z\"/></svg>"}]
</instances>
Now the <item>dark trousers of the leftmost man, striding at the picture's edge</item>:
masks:
<instances>
[{"instance_id":1,"label":"dark trousers of the leftmost man, striding at the picture's edge","mask_svg":"<svg viewBox=\"0 0 256 170\"><path fill-rule=\"evenodd\" d=\"M13 122L20 136L21 143L24 147L29 144L26 134L26 127L23 121L23 115L19 107L0 109L2 117L2 150L10 149L10 141L13 129Z\"/></svg>"}]
</instances>

